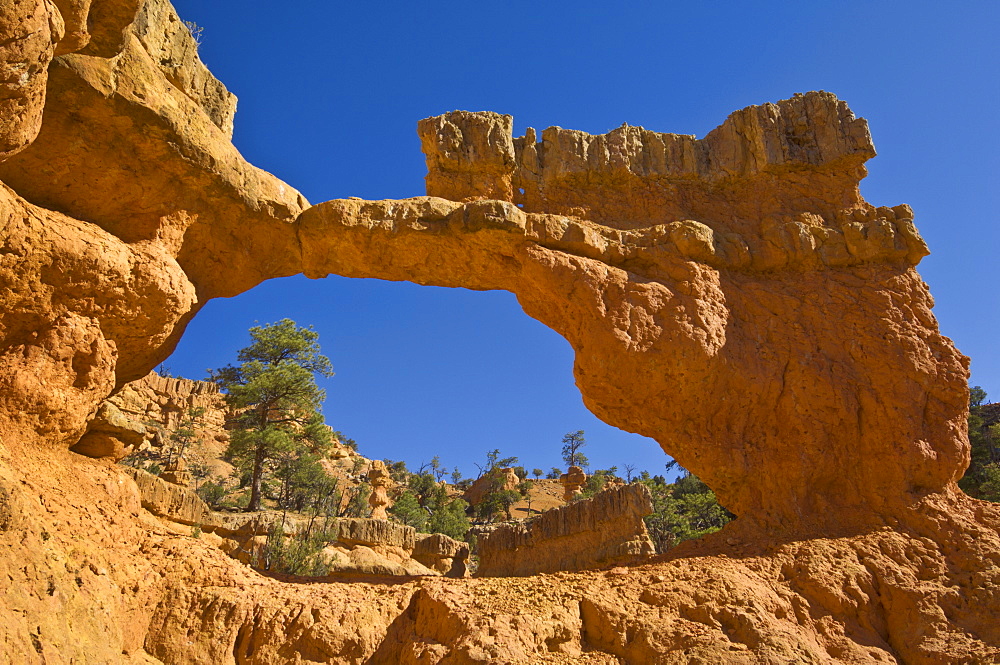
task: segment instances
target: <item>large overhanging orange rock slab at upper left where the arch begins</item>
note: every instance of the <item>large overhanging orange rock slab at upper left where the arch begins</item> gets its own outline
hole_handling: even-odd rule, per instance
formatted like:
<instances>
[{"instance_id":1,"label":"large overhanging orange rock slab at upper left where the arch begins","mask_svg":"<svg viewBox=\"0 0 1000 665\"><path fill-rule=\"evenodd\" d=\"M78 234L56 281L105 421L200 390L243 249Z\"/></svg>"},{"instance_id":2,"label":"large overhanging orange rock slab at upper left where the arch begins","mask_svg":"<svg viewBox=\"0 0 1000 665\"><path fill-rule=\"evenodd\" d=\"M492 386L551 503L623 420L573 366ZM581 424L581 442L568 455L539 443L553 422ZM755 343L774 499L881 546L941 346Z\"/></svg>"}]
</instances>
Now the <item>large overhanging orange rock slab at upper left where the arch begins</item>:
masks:
<instances>
[{"instance_id":1,"label":"large overhanging orange rock slab at upper left where the arch begins","mask_svg":"<svg viewBox=\"0 0 1000 665\"><path fill-rule=\"evenodd\" d=\"M297 243L288 226L304 199L248 165L232 146L228 129L220 129L230 124L228 93L208 79L190 35L157 28L149 14L156 6L147 5L119 55L73 54L53 62L44 127L30 148L0 166L0 179L35 203L169 253L199 286L201 299L294 272ZM255 231L244 234L251 227ZM219 280L224 275L229 286ZM119 366L120 378L144 375L149 354L140 353L131 371ZM122 354L123 363L126 358Z\"/></svg>"}]
</instances>

